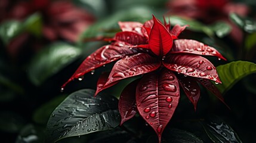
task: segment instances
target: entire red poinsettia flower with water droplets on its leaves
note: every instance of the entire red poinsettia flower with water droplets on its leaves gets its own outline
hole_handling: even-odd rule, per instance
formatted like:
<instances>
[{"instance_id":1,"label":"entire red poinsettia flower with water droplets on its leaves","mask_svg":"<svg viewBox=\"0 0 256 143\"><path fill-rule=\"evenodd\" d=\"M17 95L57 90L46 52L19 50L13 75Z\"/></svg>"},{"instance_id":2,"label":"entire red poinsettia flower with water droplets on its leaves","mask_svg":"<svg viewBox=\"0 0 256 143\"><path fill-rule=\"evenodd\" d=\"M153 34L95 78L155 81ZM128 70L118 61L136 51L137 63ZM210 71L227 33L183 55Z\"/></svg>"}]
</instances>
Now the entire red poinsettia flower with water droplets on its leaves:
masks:
<instances>
[{"instance_id":1,"label":"entire red poinsettia flower with water droplets on its leaves","mask_svg":"<svg viewBox=\"0 0 256 143\"><path fill-rule=\"evenodd\" d=\"M95 95L120 80L143 75L121 94L119 112L121 124L135 113L149 123L159 136L174 114L183 88L195 109L200 97L198 82L212 91L221 101L220 92L210 80L221 83L214 65L201 55L225 60L215 48L190 39L177 39L186 26L162 24L153 16L144 24L119 22L122 32L116 33L110 45L88 56L72 77L83 76L97 67L117 61L110 73L98 79Z\"/></svg>"}]
</instances>

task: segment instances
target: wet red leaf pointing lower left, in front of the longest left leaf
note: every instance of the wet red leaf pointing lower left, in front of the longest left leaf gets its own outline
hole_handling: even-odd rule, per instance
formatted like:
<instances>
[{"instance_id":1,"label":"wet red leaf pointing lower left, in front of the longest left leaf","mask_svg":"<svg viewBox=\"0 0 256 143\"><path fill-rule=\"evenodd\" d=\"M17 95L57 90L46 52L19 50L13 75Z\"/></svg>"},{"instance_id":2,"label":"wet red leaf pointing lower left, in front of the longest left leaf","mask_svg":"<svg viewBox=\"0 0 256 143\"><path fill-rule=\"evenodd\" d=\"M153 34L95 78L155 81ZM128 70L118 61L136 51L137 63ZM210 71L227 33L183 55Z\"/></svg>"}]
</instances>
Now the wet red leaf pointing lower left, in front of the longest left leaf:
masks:
<instances>
[{"instance_id":1,"label":"wet red leaf pointing lower left, in front of the longest left leaf","mask_svg":"<svg viewBox=\"0 0 256 143\"><path fill-rule=\"evenodd\" d=\"M109 74L106 85L140 74L149 73L161 66L161 61L146 53L139 53L117 61ZM105 86L106 86L105 85Z\"/></svg>"}]
</instances>

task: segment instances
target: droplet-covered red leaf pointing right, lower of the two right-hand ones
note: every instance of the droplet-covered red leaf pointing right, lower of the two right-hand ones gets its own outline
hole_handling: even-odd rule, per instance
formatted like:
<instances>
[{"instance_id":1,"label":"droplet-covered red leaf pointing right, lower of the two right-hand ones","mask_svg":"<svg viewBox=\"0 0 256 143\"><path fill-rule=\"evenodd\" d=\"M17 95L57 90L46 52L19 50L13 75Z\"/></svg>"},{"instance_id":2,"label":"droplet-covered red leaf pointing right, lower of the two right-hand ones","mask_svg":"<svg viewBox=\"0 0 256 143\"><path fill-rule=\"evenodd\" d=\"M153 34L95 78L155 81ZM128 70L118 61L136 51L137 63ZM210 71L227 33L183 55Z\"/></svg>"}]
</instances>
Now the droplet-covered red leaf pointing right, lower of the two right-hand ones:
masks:
<instances>
[{"instance_id":1,"label":"droplet-covered red leaf pointing right, lower of the two right-hand ones","mask_svg":"<svg viewBox=\"0 0 256 143\"><path fill-rule=\"evenodd\" d=\"M221 83L214 65L200 55L171 54L162 63L169 70Z\"/></svg>"}]
</instances>

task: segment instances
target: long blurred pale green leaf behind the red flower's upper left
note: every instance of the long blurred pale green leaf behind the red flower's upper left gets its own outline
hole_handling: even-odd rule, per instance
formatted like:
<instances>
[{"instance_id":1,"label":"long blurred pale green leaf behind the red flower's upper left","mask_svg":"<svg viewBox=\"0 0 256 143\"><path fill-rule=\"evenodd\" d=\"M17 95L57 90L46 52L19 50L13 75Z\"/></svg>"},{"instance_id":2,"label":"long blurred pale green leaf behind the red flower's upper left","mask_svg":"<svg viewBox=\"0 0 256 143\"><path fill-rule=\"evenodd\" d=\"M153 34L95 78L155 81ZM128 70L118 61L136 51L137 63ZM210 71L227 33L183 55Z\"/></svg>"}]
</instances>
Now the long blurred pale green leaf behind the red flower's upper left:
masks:
<instances>
[{"instance_id":1,"label":"long blurred pale green leaf behind the red flower's upper left","mask_svg":"<svg viewBox=\"0 0 256 143\"><path fill-rule=\"evenodd\" d=\"M81 42L91 38L112 38L116 32L121 31L118 21L138 21L144 23L152 18L152 11L146 7L129 8L128 10L118 11L104 20L100 20L81 35Z\"/></svg>"}]
</instances>

